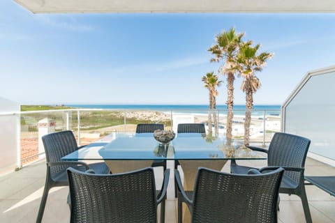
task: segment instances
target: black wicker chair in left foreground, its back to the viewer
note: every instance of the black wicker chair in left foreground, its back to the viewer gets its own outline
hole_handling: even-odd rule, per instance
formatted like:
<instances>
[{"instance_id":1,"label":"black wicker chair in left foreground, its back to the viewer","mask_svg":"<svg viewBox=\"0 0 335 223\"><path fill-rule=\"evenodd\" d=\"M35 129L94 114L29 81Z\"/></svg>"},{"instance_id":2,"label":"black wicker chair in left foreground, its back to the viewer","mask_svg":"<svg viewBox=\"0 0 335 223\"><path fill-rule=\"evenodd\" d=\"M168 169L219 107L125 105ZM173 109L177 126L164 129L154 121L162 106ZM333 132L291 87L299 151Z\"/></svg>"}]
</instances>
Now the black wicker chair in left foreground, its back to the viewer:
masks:
<instances>
[{"instance_id":1,"label":"black wicker chair in left foreground, its back to the viewer","mask_svg":"<svg viewBox=\"0 0 335 223\"><path fill-rule=\"evenodd\" d=\"M68 168L70 222L161 222L165 220L165 194L170 169L156 192L154 169L147 167L124 174L89 174Z\"/></svg>"}]
</instances>

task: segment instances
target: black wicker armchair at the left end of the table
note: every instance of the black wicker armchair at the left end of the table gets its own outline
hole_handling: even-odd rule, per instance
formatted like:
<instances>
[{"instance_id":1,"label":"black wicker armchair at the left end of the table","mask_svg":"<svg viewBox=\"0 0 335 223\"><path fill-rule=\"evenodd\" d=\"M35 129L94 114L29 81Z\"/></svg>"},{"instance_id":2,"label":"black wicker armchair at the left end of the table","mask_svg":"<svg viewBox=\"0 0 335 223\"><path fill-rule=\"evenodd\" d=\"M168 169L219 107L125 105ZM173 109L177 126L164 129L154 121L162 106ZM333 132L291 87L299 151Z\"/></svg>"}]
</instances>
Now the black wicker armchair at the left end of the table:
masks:
<instances>
[{"instance_id":1,"label":"black wicker armchair at the left end of the table","mask_svg":"<svg viewBox=\"0 0 335 223\"><path fill-rule=\"evenodd\" d=\"M50 133L43 136L42 141L47 160L47 176L36 222L42 222L45 203L47 202L47 194L50 188L68 185L68 178L66 175L66 169L68 167L73 167L81 171L93 169L99 174L108 174L110 172L110 169L108 169L105 162L86 164L77 161L61 161L61 157L64 157L79 148L72 131Z\"/></svg>"}]
</instances>

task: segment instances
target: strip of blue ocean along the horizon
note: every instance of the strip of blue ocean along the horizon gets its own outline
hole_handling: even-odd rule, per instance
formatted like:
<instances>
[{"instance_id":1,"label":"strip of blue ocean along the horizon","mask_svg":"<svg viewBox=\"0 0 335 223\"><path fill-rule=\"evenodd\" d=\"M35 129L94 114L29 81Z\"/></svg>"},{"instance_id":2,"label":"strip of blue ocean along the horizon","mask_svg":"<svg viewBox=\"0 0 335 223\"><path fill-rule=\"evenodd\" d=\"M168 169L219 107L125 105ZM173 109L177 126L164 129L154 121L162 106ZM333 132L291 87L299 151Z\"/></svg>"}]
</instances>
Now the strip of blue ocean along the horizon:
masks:
<instances>
[{"instance_id":1,"label":"strip of blue ocean along the horizon","mask_svg":"<svg viewBox=\"0 0 335 223\"><path fill-rule=\"evenodd\" d=\"M150 110L158 112L177 112L188 114L207 114L208 105L66 105L83 109L130 109L130 110ZM225 114L227 106L217 105L218 112ZM234 114L244 115L245 105L234 105ZM279 116L281 114L281 105L254 105L253 116L266 115Z\"/></svg>"}]
</instances>

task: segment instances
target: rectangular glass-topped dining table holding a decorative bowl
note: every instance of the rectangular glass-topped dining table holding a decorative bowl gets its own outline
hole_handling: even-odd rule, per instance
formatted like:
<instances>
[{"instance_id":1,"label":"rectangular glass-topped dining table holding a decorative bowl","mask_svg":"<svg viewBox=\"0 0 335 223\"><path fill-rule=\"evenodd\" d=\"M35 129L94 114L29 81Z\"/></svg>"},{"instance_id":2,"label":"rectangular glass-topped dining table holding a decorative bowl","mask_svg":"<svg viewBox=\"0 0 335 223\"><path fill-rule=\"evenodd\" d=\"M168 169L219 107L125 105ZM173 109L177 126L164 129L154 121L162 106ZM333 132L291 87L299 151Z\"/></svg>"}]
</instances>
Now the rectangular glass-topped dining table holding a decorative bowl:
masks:
<instances>
[{"instance_id":1,"label":"rectangular glass-topped dining table holding a decorative bowl","mask_svg":"<svg viewBox=\"0 0 335 223\"><path fill-rule=\"evenodd\" d=\"M115 132L61 158L64 161L104 160L113 174L150 167L153 160L178 160L183 169L186 191L193 190L198 167L219 171L227 160L233 159L265 160L267 157L264 153L246 148L243 141L235 140L228 146L224 137L179 133L170 144L160 144L153 133ZM127 160L130 162L125 162ZM173 181L174 178L170 178L170 188L174 187ZM174 198L174 190L168 192L168 198ZM184 222L191 222L191 215L185 207L183 213Z\"/></svg>"}]
</instances>

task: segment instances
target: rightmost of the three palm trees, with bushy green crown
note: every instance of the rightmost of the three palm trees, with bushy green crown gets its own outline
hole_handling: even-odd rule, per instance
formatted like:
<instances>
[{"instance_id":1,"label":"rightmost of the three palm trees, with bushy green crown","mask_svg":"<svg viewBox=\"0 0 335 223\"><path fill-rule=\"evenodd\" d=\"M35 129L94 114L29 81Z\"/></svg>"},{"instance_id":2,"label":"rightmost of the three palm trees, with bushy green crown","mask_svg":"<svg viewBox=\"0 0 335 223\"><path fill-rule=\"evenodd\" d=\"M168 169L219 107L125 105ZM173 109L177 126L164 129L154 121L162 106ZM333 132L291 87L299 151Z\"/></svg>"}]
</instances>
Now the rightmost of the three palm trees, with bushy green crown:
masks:
<instances>
[{"instance_id":1,"label":"rightmost of the three palm trees, with bushy green crown","mask_svg":"<svg viewBox=\"0 0 335 223\"><path fill-rule=\"evenodd\" d=\"M246 93L246 118L244 121L244 145L248 146L250 141L251 109L253 109L253 93L260 89L260 79L255 76L256 71L261 71L266 65L267 59L273 54L262 52L257 54L260 45L251 46L251 41L243 43L237 55L239 62L239 73L244 77L241 90Z\"/></svg>"}]
</instances>

